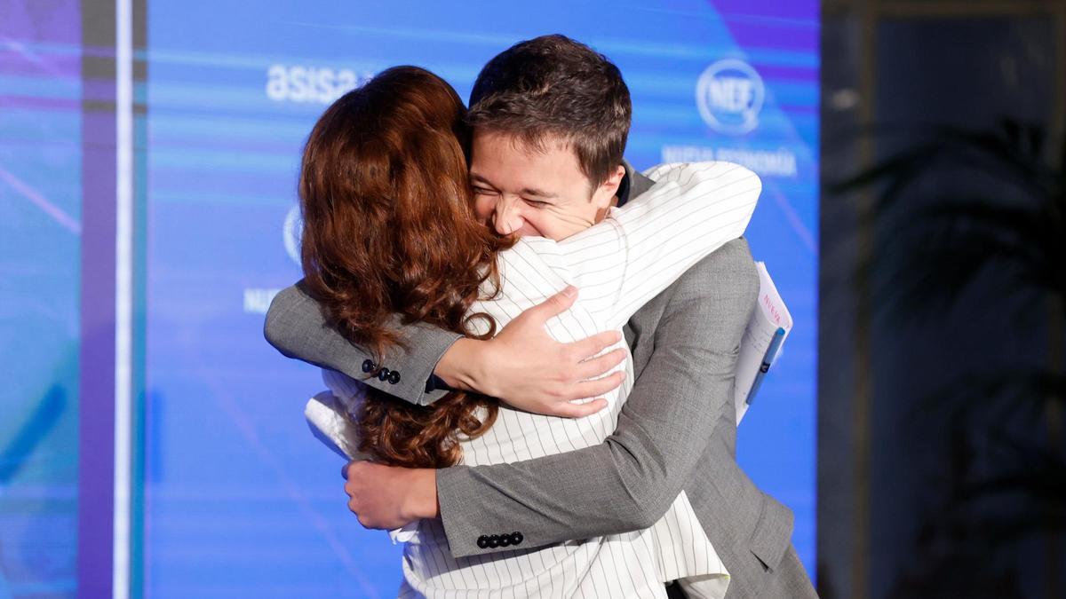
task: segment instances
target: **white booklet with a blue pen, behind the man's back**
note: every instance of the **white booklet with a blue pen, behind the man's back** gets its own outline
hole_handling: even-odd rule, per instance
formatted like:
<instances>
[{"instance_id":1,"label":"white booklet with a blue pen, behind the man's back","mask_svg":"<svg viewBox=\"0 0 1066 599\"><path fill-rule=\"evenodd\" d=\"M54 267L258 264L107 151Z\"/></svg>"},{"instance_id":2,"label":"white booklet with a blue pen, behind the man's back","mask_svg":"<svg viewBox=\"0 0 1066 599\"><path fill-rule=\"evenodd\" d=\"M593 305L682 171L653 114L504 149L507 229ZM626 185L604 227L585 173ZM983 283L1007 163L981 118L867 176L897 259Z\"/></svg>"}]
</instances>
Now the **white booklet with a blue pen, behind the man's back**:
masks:
<instances>
[{"instance_id":1,"label":"white booklet with a blue pen, behind the man's back","mask_svg":"<svg viewBox=\"0 0 1066 599\"><path fill-rule=\"evenodd\" d=\"M744 337L741 338L740 357L737 360L733 404L738 425L755 400L762 377L777 359L785 339L792 330L792 314L777 293L777 287L766 272L766 264L756 262L755 266L759 271L759 302L747 323L747 329L744 330Z\"/></svg>"}]
</instances>

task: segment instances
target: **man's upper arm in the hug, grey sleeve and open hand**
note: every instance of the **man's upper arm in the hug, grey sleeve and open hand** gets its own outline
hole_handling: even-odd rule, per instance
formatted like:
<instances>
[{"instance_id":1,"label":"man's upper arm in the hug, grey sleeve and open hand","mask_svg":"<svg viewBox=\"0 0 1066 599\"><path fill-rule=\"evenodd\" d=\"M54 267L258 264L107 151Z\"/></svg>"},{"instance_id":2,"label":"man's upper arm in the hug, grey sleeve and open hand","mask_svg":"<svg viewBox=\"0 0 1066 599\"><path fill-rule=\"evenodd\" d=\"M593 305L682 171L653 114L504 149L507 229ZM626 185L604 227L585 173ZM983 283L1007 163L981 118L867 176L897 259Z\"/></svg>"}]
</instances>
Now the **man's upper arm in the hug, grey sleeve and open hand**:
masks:
<instances>
[{"instance_id":1,"label":"man's upper arm in the hug, grey sleeve and open hand","mask_svg":"<svg viewBox=\"0 0 1066 599\"><path fill-rule=\"evenodd\" d=\"M617 350L591 357L618 341L613 330L572 343L560 343L548 335L545 322L569 308L576 297L577 290L563 290L522 312L488 341L466 339L423 323L404 325L393 318L392 326L403 331L406 346L393 347L377 365L326 324L319 304L301 281L274 297L263 335L290 358L336 370L414 404L431 404L455 388L498 396L537 414L578 418L607 403L572 404L571 400L607 393L621 385L624 375L616 372L585 379L602 376L626 354ZM378 367L382 375L369 377L368 371ZM432 384L434 376L447 385Z\"/></svg>"}]
</instances>

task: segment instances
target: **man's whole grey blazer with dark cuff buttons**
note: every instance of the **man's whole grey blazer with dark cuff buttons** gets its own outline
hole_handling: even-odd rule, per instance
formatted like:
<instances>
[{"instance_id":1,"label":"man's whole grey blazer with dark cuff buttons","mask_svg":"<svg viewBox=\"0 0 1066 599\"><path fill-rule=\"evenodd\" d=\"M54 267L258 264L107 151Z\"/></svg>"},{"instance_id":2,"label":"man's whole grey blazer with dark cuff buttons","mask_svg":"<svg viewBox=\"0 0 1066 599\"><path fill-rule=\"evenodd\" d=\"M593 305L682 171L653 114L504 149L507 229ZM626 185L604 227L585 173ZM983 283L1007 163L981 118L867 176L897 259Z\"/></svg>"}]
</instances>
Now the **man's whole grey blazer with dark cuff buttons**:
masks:
<instances>
[{"instance_id":1,"label":"man's whole grey blazer with dark cuff buttons","mask_svg":"<svg viewBox=\"0 0 1066 599\"><path fill-rule=\"evenodd\" d=\"M640 175L631 181L634 196L650 185ZM758 291L747 242L739 239L637 311L625 328L636 384L602 444L439 470L440 515L452 553L507 550L478 547L484 535L520 532L524 546L539 547L645 529L683 489L731 574L728 597L817 597L790 546L792 513L756 488L736 459L736 416L728 406ZM401 328L409 350L395 350L382 363L400 372L399 381L367 383L432 403L446 391L426 382L457 336L424 325ZM265 336L286 356L367 377L369 356L324 325L300 284L275 297Z\"/></svg>"}]
</instances>

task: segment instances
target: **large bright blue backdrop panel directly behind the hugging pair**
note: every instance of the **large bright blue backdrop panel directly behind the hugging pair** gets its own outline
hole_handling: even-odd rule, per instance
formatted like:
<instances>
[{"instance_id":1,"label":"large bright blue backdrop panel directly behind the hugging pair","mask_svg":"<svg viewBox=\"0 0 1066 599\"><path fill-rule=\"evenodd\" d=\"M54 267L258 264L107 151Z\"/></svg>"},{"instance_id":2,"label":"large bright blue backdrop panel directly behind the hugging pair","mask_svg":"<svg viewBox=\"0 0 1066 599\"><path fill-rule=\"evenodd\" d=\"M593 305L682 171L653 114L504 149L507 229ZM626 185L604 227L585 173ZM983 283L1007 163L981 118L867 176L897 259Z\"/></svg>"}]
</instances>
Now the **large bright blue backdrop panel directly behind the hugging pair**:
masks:
<instances>
[{"instance_id":1,"label":"large bright blue backdrop panel directly behind the hugging pair","mask_svg":"<svg viewBox=\"0 0 1066 599\"><path fill-rule=\"evenodd\" d=\"M628 158L724 159L764 192L748 233L795 318L740 432L740 460L796 514L813 571L818 3L148 3L143 551L151 597L388 597L400 548L346 509L307 430L323 385L262 339L301 276L295 181L324 108L415 64L464 98L481 66L561 32L633 94Z\"/></svg>"}]
</instances>

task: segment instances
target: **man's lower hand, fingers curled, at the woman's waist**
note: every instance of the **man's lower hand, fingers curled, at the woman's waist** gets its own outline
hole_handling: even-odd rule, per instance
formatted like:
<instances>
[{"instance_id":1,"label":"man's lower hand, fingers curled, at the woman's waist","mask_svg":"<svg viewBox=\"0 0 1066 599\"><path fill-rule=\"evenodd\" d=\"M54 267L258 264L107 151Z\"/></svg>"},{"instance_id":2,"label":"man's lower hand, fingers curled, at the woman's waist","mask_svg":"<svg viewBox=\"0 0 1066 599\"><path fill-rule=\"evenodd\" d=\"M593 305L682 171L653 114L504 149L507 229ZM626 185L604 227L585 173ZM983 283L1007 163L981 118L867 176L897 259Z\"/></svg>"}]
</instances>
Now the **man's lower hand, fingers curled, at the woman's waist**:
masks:
<instances>
[{"instance_id":1,"label":"man's lower hand, fingers curled, at the woman's waist","mask_svg":"<svg viewBox=\"0 0 1066 599\"><path fill-rule=\"evenodd\" d=\"M341 475L348 481L348 508L368 529L399 529L438 515L436 470L356 460L344 465Z\"/></svg>"}]
</instances>

